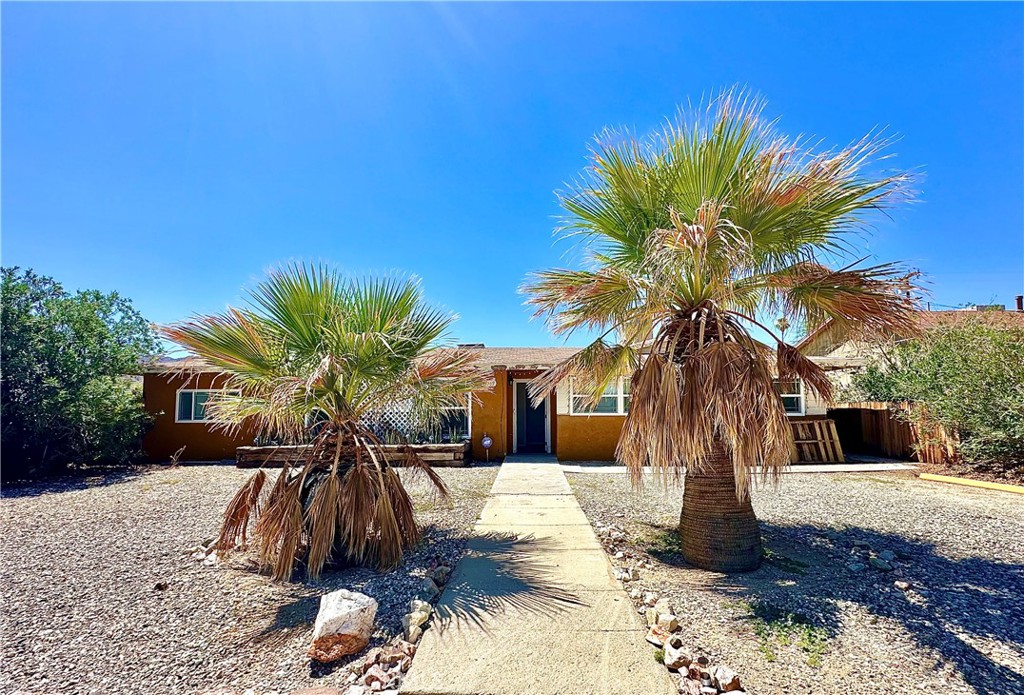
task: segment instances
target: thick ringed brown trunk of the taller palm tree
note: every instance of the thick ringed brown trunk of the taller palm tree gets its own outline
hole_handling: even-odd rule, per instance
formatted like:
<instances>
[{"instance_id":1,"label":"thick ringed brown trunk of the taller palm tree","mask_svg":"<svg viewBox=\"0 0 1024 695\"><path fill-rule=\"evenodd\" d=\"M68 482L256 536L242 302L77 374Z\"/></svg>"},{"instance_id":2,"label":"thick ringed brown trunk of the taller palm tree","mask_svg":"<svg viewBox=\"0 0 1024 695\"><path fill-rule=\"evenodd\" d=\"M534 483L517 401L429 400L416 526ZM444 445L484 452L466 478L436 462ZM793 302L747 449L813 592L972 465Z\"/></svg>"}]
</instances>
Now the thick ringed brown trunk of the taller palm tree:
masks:
<instances>
[{"instance_id":1,"label":"thick ringed brown trunk of the taller palm tree","mask_svg":"<svg viewBox=\"0 0 1024 695\"><path fill-rule=\"evenodd\" d=\"M716 572L750 572L763 550L751 497L736 499L736 478L724 443L718 442L699 474L686 473L679 535L686 562Z\"/></svg>"}]
</instances>

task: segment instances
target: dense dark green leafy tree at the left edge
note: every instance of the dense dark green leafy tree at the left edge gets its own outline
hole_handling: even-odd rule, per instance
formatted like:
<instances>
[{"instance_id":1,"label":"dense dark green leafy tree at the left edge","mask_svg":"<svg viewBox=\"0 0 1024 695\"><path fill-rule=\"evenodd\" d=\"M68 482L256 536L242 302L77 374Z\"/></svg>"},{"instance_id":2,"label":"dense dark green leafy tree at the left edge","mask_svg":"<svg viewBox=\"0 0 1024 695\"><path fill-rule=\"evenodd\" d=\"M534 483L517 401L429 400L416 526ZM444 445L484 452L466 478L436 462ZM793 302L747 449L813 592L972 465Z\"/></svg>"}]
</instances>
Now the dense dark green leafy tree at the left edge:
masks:
<instances>
[{"instance_id":1,"label":"dense dark green leafy tree at the left edge","mask_svg":"<svg viewBox=\"0 0 1024 695\"><path fill-rule=\"evenodd\" d=\"M148 418L128 375L158 349L150 324L117 293L2 272L4 479L134 459Z\"/></svg>"}]
</instances>

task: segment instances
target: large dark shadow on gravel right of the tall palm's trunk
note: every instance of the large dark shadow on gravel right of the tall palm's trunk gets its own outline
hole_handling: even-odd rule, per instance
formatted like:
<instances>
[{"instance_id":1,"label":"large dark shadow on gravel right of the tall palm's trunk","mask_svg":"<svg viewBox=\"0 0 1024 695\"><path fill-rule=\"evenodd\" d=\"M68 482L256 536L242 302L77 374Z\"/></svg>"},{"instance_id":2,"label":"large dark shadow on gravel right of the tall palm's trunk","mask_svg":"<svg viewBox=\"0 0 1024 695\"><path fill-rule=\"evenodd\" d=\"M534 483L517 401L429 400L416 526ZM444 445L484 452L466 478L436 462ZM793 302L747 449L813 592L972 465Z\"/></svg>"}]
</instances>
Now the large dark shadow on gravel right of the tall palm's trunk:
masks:
<instances>
[{"instance_id":1,"label":"large dark shadow on gravel right of the tall palm's trunk","mask_svg":"<svg viewBox=\"0 0 1024 695\"><path fill-rule=\"evenodd\" d=\"M652 530L658 530L652 527ZM689 567L662 528L648 552L659 561ZM752 608L750 619L786 615L829 638L842 632L837 602L860 604L873 615L895 620L922 646L956 667L978 693L1024 692L1024 676L990 658L957 637L998 641L1024 650L1024 565L984 558L951 559L934 545L898 534L848 527L843 531L811 525L762 522L765 562L755 572L708 573L707 588ZM950 529L955 532L955 529ZM871 558L895 554L893 571L870 566ZM862 568L851 570L857 563ZM896 580L907 581L901 591Z\"/></svg>"}]
</instances>

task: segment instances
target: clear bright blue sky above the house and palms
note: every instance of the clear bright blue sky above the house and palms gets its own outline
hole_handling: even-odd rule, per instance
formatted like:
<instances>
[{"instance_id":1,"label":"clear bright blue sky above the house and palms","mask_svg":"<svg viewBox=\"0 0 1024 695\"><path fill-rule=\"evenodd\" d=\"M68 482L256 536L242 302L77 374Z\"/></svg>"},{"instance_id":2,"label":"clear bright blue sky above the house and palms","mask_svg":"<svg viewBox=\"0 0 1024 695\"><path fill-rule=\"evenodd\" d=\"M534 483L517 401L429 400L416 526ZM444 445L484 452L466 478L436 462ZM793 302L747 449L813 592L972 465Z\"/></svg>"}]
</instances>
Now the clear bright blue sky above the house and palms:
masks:
<instances>
[{"instance_id":1,"label":"clear bright blue sky above the house and palms","mask_svg":"<svg viewBox=\"0 0 1024 695\"><path fill-rule=\"evenodd\" d=\"M158 322L283 260L399 270L458 339L557 344L516 292L579 261L554 190L605 126L738 83L793 134L899 133L919 202L867 253L928 273L933 303L1009 305L1022 28L1010 3L4 3L3 263Z\"/></svg>"}]
</instances>

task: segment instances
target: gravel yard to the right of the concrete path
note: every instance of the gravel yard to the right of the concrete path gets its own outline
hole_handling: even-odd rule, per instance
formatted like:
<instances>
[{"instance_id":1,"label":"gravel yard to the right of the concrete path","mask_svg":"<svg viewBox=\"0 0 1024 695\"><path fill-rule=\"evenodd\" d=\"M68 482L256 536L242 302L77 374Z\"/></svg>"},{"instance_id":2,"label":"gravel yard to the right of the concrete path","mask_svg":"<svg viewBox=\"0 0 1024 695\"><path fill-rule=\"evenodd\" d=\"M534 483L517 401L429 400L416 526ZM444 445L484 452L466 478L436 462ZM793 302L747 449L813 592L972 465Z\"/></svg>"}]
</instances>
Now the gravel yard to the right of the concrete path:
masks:
<instances>
[{"instance_id":1,"label":"gravel yard to the right of the concrete path","mask_svg":"<svg viewBox=\"0 0 1024 695\"><path fill-rule=\"evenodd\" d=\"M679 556L680 489L567 478L591 523L612 526L599 531L612 563L640 568L627 589L667 597L684 642L749 692L1024 693L1019 495L897 473L785 475L754 493L767 561L725 576ZM871 565L890 553L895 569Z\"/></svg>"}]
</instances>

